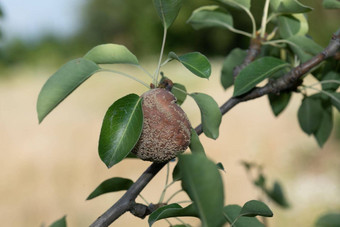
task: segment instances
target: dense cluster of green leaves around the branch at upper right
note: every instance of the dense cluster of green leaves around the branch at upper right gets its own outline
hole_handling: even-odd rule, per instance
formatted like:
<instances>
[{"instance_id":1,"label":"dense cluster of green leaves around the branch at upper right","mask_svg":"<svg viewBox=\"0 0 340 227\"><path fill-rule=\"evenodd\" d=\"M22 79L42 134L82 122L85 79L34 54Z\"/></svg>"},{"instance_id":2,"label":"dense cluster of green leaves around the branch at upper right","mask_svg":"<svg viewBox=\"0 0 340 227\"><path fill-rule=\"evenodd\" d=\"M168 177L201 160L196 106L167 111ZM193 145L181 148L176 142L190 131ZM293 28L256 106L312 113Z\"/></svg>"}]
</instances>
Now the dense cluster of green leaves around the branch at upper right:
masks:
<instances>
[{"instance_id":1,"label":"dense cluster of green leaves around the branch at upper right","mask_svg":"<svg viewBox=\"0 0 340 227\"><path fill-rule=\"evenodd\" d=\"M248 50L235 48L226 56L221 70L221 84L227 89L233 85L233 96L239 97L253 90L263 81L271 83L283 77L299 64L306 63L322 52L323 48L308 36L307 13L313 9L297 0L265 1L260 27L256 25L250 8L253 1L215 0L216 5L196 9L188 20L195 29L219 27L250 38ZM339 9L337 1L323 1L327 9ZM252 26L252 33L235 27L230 7L244 11ZM258 50L257 50L258 49ZM331 134L332 106L339 111L340 65L328 59L313 68L311 75L318 84L307 86L303 81L287 91L268 94L275 116L288 106L293 92L303 94L298 110L302 130L314 135L320 147ZM322 85L321 89L315 86ZM319 94L307 95L306 90Z\"/></svg>"}]
</instances>

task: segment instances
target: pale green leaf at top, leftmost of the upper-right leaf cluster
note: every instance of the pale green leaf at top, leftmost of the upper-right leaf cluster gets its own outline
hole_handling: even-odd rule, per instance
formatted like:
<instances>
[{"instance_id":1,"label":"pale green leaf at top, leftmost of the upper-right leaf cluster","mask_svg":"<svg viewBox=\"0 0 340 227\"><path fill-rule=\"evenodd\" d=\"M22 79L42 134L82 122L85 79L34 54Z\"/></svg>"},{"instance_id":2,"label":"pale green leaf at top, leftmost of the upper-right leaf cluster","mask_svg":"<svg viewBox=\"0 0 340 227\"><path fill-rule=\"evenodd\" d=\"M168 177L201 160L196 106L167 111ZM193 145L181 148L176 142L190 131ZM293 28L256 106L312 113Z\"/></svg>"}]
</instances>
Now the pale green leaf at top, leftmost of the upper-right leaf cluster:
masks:
<instances>
[{"instance_id":1,"label":"pale green leaf at top, leftmost of the upper-right leaf cluster","mask_svg":"<svg viewBox=\"0 0 340 227\"><path fill-rule=\"evenodd\" d=\"M187 23L191 24L194 29L221 27L233 27L233 18L229 12L222 10L216 5L203 6L196 9L188 19Z\"/></svg>"}]
</instances>

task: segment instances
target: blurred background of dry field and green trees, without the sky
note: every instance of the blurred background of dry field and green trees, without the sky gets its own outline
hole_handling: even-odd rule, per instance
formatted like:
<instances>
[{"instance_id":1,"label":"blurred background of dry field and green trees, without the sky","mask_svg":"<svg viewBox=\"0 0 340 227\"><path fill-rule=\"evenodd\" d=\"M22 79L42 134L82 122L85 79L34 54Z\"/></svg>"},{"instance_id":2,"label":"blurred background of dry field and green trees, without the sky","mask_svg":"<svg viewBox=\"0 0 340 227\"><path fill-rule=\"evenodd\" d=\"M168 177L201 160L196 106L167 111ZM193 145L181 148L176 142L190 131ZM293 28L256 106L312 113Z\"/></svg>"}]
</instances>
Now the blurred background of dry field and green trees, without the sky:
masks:
<instances>
[{"instance_id":1,"label":"blurred background of dry field and green trees, without the sky","mask_svg":"<svg viewBox=\"0 0 340 227\"><path fill-rule=\"evenodd\" d=\"M39 1L32 4L37 4ZM315 8L309 14L310 35L325 46L337 27L340 15L321 8L321 1L301 1ZM166 53L200 51L212 60L211 79L198 79L179 64L163 68L167 76L186 85L189 92L213 96L219 105L232 94L219 83L223 56L233 47L246 48L247 40L219 29L194 31L185 20L196 7L209 1L187 0L169 30ZM260 15L263 1L253 8ZM20 4L20 1L18 1ZM67 4L67 3L65 3ZM6 21L6 2L0 3ZM19 5L18 5L19 7ZM127 93L145 91L120 76L96 74L68 97L39 125L35 110L38 93L63 63L83 56L95 45L114 42L126 45L149 71L154 70L162 29L151 1L89 0L79 5L79 26L72 34L49 30L34 37L6 37L0 50L0 220L2 226L40 226L67 215L69 226L88 226L110 207L122 192L85 201L90 192L111 177L136 180L150 163L126 160L107 169L97 153L102 119L107 108ZM136 13L138 12L138 13ZM51 13L52 14L52 13ZM7 17L8 18L8 17ZM247 29L247 18L237 14L235 23ZM0 29L2 24L0 24ZM27 31L28 32L28 31ZM115 67L117 69L117 67ZM121 71L148 81L143 72L127 66ZM313 83L313 81L307 81ZM312 226L328 211L340 210L340 119L330 140L320 149L297 122L301 95L295 94L288 108L275 118L267 98L242 103L224 116L217 141L201 136L208 156L222 162L226 173L226 204L243 205L261 197L250 183L240 161L263 165L269 183L279 180L291 205L274 211L269 226ZM192 125L199 123L198 108L189 98L183 105ZM175 163L171 163L173 168ZM165 168L142 192L157 202L165 183ZM175 192L179 185L170 188ZM173 201L186 200L184 193ZM142 202L142 200L140 200ZM195 219L184 218L193 226ZM177 223L173 221L173 223ZM112 226L148 226L127 213ZM168 226L165 221L155 226Z\"/></svg>"}]
</instances>

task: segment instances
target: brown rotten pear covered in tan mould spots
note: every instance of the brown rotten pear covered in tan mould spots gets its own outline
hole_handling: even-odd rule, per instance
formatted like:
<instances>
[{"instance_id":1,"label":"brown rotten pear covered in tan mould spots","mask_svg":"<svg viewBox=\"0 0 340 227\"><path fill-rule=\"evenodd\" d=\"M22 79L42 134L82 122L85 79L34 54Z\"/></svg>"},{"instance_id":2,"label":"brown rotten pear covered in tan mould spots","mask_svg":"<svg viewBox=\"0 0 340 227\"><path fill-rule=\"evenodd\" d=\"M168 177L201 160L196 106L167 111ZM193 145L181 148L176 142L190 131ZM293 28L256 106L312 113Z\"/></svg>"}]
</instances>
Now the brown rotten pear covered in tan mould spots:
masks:
<instances>
[{"instance_id":1,"label":"brown rotten pear covered in tan mould spots","mask_svg":"<svg viewBox=\"0 0 340 227\"><path fill-rule=\"evenodd\" d=\"M141 96L143 130L132 152L142 160L166 162L190 144L190 122L168 89L153 88Z\"/></svg>"}]
</instances>

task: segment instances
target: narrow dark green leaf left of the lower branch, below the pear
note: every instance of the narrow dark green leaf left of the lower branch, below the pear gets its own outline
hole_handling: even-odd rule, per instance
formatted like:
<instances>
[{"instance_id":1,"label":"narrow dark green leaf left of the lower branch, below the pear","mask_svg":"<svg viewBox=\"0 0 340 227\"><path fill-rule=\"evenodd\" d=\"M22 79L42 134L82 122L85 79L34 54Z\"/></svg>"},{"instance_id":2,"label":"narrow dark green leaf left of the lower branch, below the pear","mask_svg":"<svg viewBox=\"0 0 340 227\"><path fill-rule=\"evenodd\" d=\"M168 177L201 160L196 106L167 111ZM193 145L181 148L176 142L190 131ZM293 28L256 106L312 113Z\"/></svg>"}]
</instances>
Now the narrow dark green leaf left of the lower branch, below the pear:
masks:
<instances>
[{"instance_id":1,"label":"narrow dark green leaf left of the lower branch, below the pear","mask_svg":"<svg viewBox=\"0 0 340 227\"><path fill-rule=\"evenodd\" d=\"M117 192L122 190L128 190L133 181L121 177L113 177L111 179L103 181L88 197L86 200L93 199L109 192Z\"/></svg>"}]
</instances>

